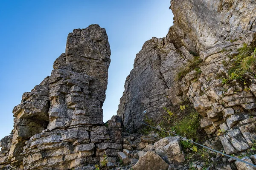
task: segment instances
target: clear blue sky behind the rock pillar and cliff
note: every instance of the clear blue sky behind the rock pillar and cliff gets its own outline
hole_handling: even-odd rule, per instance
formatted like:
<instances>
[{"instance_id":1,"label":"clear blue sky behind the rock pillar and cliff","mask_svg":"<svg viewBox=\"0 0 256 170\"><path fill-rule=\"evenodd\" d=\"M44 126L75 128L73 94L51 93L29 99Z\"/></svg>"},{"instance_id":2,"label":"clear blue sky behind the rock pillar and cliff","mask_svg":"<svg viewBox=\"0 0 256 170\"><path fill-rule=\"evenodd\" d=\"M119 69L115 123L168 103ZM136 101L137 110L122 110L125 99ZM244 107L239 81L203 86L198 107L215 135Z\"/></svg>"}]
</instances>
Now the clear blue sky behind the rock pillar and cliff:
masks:
<instances>
[{"instance_id":1,"label":"clear blue sky behind the rock pillar and cliff","mask_svg":"<svg viewBox=\"0 0 256 170\"><path fill-rule=\"evenodd\" d=\"M50 75L65 52L67 34L97 23L111 45L106 122L116 115L135 55L172 26L170 0L1 0L0 139L13 128L12 109L26 91Z\"/></svg>"}]
</instances>

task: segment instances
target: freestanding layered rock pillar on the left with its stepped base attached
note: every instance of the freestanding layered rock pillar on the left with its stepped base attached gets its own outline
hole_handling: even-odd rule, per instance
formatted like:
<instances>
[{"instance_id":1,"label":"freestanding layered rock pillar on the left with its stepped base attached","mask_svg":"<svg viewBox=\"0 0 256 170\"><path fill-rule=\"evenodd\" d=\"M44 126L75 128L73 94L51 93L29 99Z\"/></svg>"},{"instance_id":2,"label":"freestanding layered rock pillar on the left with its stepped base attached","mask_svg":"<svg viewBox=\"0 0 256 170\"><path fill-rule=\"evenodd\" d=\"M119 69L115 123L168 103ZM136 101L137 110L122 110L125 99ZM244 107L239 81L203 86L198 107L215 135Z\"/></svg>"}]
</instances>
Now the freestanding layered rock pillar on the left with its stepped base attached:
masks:
<instances>
[{"instance_id":1,"label":"freestanding layered rock pillar on the left with its stepped base attached","mask_svg":"<svg viewBox=\"0 0 256 170\"><path fill-rule=\"evenodd\" d=\"M113 116L108 128L102 121L110 55L99 25L68 35L51 76L14 108L14 130L0 143L0 169L66 170L116 156L122 120Z\"/></svg>"}]
</instances>

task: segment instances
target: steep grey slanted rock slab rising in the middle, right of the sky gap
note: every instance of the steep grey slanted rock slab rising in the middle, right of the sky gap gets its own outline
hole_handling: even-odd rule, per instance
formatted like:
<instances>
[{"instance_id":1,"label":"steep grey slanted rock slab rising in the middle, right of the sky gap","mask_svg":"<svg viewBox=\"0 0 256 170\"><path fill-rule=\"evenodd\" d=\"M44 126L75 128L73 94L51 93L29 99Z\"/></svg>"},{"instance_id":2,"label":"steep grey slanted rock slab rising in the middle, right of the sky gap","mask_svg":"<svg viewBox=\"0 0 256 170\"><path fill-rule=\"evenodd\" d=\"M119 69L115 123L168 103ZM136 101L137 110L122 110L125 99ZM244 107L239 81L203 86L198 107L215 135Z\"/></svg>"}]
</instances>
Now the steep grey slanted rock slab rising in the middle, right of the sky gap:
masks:
<instances>
[{"instance_id":1,"label":"steep grey slanted rock slab rising in the middle, right of the sky gap","mask_svg":"<svg viewBox=\"0 0 256 170\"><path fill-rule=\"evenodd\" d=\"M175 76L178 69L192 59L185 48L176 49L166 38L152 38L144 43L136 55L134 69L126 78L117 111L127 130L140 127L139 121L145 116L160 120L163 106L182 101L181 96L169 96L169 92L177 87Z\"/></svg>"}]
</instances>

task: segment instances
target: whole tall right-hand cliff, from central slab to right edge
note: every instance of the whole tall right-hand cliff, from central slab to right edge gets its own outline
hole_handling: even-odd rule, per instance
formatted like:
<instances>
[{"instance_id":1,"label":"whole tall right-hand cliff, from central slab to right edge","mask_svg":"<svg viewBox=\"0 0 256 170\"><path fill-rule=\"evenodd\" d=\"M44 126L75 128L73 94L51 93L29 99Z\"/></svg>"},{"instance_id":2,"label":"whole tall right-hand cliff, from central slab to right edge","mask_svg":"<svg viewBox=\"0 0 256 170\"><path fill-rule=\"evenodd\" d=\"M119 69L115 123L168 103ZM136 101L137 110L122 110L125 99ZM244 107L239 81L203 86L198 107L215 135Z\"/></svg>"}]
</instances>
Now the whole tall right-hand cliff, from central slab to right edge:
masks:
<instances>
[{"instance_id":1,"label":"whole tall right-hand cliff, from central slab to right edge","mask_svg":"<svg viewBox=\"0 0 256 170\"><path fill-rule=\"evenodd\" d=\"M245 70L242 81L229 71L242 53L239 48L255 47L256 3L172 0L171 8L174 26L166 37L145 42L137 54L117 114L134 131L146 119L159 122L163 107L188 100L202 116L208 147L227 154L248 150L256 140L255 70ZM256 57L253 51L248 55ZM196 57L201 61L197 69L187 69ZM182 71L186 74L177 79Z\"/></svg>"}]
</instances>

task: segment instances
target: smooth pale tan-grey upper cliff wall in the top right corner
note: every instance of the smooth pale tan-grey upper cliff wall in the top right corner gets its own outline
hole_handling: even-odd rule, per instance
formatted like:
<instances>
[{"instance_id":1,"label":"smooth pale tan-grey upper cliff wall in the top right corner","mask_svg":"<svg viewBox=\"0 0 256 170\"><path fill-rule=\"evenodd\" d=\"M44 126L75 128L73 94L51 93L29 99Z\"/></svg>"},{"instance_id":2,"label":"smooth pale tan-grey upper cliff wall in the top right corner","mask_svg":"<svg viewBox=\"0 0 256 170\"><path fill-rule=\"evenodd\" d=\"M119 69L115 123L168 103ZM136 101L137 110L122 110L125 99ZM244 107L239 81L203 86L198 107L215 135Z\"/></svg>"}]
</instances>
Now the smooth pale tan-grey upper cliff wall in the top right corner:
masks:
<instances>
[{"instance_id":1,"label":"smooth pale tan-grey upper cliff wall in the top right corner","mask_svg":"<svg viewBox=\"0 0 256 170\"><path fill-rule=\"evenodd\" d=\"M172 0L171 9L167 39L177 48L199 52L236 39L249 44L256 32L254 0Z\"/></svg>"}]
</instances>

